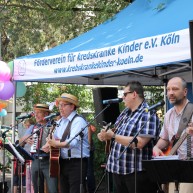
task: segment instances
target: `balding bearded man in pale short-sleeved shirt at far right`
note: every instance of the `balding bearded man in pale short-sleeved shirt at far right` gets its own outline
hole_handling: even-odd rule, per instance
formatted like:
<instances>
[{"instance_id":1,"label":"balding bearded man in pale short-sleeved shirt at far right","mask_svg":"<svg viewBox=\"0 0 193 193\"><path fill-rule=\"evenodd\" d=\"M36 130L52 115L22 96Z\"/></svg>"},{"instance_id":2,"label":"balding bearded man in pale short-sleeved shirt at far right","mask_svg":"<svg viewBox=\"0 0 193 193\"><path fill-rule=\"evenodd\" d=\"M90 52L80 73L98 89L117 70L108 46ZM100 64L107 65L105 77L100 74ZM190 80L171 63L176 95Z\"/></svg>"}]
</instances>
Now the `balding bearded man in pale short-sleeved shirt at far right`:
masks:
<instances>
[{"instance_id":1,"label":"balding bearded man in pale short-sleeved shirt at far right","mask_svg":"<svg viewBox=\"0 0 193 193\"><path fill-rule=\"evenodd\" d=\"M183 114L185 113L185 109L187 104L189 103L187 99L187 83L181 77L174 77L168 81L167 84L167 97L169 102L174 106L165 114L163 128L160 133L160 139L157 144L153 148L153 155L160 156L164 155L163 149L165 149L172 141L173 136L176 136L178 132L178 127L180 125L180 120ZM188 120L189 121L189 120ZM192 117L190 121L192 122ZM183 133L185 133L185 128ZM186 136L186 133L182 135ZM180 136L177 136L179 138ZM187 138L188 139L188 138ZM179 139L181 140L181 139ZM193 138L190 138L190 152L193 155ZM178 143L178 142L177 142ZM188 145L187 140L184 140L182 144L180 144L177 149L177 154L180 159L186 159L188 157ZM169 184L169 193L173 193L175 189L175 184ZM178 187L177 187L178 188ZM193 183L180 183L179 184L179 193L192 193Z\"/></svg>"}]
</instances>

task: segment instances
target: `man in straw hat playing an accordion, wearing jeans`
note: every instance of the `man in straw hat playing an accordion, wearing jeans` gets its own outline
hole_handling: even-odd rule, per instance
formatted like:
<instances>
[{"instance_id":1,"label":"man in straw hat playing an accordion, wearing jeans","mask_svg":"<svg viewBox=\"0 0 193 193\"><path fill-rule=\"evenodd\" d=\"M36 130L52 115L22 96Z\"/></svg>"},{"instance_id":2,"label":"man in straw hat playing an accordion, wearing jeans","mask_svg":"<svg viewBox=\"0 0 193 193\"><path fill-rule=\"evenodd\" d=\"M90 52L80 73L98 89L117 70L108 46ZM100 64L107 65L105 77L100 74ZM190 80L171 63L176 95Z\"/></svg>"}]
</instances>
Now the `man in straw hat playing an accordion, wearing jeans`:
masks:
<instances>
[{"instance_id":1,"label":"man in straw hat playing an accordion, wearing jeans","mask_svg":"<svg viewBox=\"0 0 193 193\"><path fill-rule=\"evenodd\" d=\"M44 117L50 114L49 106L46 104L34 105L34 114L36 119L35 126L26 133L29 136L31 133L39 130L27 142L31 144L31 153L34 158L32 161L32 182L34 193L44 193L44 179L47 183L49 193L58 193L58 179L49 176L49 154L42 151L42 146L46 144L50 127Z\"/></svg>"}]
</instances>

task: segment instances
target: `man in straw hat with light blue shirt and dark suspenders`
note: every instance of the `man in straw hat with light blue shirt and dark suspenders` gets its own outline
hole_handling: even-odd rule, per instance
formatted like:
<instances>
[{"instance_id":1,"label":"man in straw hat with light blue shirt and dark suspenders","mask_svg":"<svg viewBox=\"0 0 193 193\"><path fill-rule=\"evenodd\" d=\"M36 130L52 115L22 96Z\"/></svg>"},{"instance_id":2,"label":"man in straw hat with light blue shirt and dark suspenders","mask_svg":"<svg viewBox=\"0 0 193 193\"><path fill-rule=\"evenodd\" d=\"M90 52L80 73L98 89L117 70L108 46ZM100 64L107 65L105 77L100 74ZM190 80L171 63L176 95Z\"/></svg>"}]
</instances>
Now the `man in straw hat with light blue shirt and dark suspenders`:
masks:
<instances>
[{"instance_id":1,"label":"man in straw hat with light blue shirt and dark suspenders","mask_svg":"<svg viewBox=\"0 0 193 193\"><path fill-rule=\"evenodd\" d=\"M80 187L82 191L85 189L87 159L89 157L87 122L76 112L79 102L74 95L63 93L60 98L56 99L56 104L58 105L61 119L58 121L54 137L48 139L48 144L61 148L60 191L62 193L80 193ZM77 135L81 130L83 130L82 140L81 136ZM82 169L81 154L83 158Z\"/></svg>"}]
</instances>

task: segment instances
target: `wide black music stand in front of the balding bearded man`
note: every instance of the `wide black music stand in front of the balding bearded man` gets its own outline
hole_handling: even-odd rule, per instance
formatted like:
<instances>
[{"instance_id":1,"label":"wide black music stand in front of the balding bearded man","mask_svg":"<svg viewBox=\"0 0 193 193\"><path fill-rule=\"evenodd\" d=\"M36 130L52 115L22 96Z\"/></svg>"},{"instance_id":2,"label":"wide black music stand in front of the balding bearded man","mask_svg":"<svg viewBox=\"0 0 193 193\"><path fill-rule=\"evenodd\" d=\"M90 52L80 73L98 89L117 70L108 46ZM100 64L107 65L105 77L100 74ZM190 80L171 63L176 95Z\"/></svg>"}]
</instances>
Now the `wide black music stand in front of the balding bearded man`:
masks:
<instances>
[{"instance_id":1,"label":"wide black music stand in front of the balding bearded man","mask_svg":"<svg viewBox=\"0 0 193 193\"><path fill-rule=\"evenodd\" d=\"M142 164L149 178L159 184L193 182L193 160L143 160Z\"/></svg>"}]
</instances>

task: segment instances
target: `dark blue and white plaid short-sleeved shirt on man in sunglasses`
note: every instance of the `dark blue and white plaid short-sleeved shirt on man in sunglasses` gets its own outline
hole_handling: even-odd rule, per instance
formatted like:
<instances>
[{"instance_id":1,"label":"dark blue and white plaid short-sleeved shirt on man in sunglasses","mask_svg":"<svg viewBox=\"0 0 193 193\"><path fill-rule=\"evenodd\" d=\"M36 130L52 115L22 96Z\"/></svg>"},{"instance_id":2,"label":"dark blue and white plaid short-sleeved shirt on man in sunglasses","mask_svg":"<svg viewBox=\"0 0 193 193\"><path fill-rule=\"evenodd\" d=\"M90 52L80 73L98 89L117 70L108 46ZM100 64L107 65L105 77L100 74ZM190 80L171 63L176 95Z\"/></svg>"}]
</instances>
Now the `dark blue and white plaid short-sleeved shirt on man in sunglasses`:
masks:
<instances>
[{"instance_id":1,"label":"dark blue and white plaid short-sleeved shirt on man in sunglasses","mask_svg":"<svg viewBox=\"0 0 193 193\"><path fill-rule=\"evenodd\" d=\"M159 133L159 119L157 115L153 112L146 112L146 108L148 108L148 105L145 101L134 112L126 108L117 118L115 123L115 133L118 135L135 136L142 128L139 136L151 136L151 140L143 147L143 149L137 149L137 171L142 171L143 169L142 160L149 160L152 158L152 148L155 145L155 138ZM124 148L124 145L115 141L112 142L106 168L108 172L126 175L135 171L134 150L127 148L120 157Z\"/></svg>"}]
</instances>

